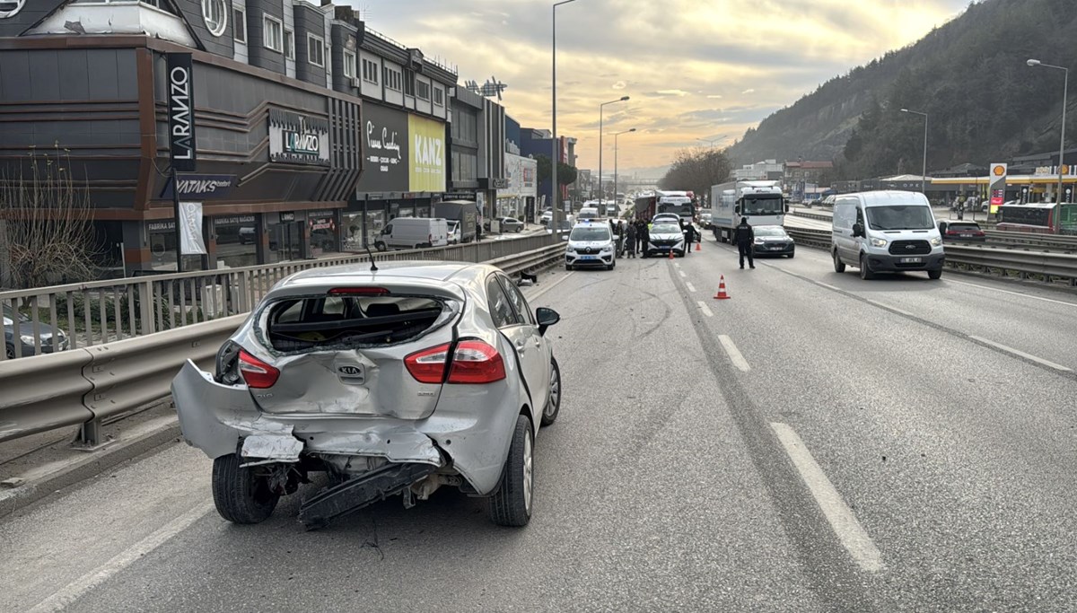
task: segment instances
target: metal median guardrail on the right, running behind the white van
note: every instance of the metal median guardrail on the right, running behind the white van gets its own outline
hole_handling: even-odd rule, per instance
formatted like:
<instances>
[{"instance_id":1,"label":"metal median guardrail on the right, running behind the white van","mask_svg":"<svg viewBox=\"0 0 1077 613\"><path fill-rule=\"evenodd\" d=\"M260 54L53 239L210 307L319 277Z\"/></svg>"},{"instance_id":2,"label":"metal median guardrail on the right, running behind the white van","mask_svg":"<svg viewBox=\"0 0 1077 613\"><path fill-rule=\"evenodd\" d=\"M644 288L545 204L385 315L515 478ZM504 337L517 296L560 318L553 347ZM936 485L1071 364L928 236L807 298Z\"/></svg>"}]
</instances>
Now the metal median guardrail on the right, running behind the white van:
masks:
<instances>
[{"instance_id":1,"label":"metal median guardrail on the right, running behind the white van","mask_svg":"<svg viewBox=\"0 0 1077 613\"><path fill-rule=\"evenodd\" d=\"M830 232L826 229L791 228L785 231L797 245L815 249L830 249ZM1077 254L1049 251L1001 249L994 246L966 246L948 243L946 264L970 270L1002 274L1016 273L1022 279L1041 277L1043 281L1066 281L1077 287Z\"/></svg>"}]
</instances>

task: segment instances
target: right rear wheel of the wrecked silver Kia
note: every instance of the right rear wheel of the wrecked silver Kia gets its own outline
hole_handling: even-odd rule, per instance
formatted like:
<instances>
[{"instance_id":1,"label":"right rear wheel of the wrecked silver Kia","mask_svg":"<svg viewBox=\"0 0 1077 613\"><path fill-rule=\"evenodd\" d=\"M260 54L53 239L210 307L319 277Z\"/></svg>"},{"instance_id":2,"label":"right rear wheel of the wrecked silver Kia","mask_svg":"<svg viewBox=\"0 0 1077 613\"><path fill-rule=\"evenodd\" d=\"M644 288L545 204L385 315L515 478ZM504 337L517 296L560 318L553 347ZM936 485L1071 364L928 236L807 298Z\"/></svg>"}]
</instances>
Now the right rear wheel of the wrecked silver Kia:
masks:
<instances>
[{"instance_id":1,"label":"right rear wheel of the wrecked silver Kia","mask_svg":"<svg viewBox=\"0 0 1077 613\"><path fill-rule=\"evenodd\" d=\"M527 526L534 496L534 436L531 422L516 418L508 457L501 470L498 490L489 498L490 520L498 526Z\"/></svg>"}]
</instances>

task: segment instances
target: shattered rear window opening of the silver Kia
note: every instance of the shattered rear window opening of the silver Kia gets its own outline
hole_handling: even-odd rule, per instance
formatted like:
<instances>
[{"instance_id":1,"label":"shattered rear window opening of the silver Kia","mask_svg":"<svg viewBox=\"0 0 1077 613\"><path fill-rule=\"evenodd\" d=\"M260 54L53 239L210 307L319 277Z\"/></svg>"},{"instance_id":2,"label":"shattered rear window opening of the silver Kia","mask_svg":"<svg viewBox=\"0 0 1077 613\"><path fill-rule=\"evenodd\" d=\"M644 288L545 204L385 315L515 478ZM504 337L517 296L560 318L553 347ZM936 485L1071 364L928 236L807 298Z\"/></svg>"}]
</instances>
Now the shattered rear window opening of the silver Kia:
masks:
<instances>
[{"instance_id":1,"label":"shattered rear window opening of the silver Kia","mask_svg":"<svg viewBox=\"0 0 1077 613\"><path fill-rule=\"evenodd\" d=\"M393 345L445 323L453 303L431 296L309 296L271 305L265 336L278 351Z\"/></svg>"}]
</instances>

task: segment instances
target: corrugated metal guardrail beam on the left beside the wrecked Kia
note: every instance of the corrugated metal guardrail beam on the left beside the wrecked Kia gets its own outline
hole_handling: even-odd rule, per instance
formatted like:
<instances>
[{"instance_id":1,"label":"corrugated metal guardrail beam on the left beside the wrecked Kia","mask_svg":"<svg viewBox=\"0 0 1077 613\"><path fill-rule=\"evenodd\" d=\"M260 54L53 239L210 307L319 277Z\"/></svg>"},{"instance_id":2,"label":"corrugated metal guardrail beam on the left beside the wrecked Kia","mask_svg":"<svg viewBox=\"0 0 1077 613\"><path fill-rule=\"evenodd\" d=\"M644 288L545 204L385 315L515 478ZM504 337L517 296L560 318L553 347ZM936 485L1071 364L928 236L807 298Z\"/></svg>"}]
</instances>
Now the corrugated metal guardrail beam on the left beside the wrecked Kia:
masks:
<instances>
[{"instance_id":1,"label":"corrugated metal guardrail beam on the left beside the wrecked Kia","mask_svg":"<svg viewBox=\"0 0 1077 613\"><path fill-rule=\"evenodd\" d=\"M564 243L490 257L509 275L536 270L564 257ZM517 246L520 241L514 242ZM480 243L481 245L481 243ZM466 247L466 246L464 246ZM482 249L493 253L501 249ZM475 252L475 250L473 250ZM426 255L430 250L421 254ZM415 255L411 252L411 255ZM380 256L379 256L380 259ZM401 257L396 257L400 260ZM253 299L253 293L243 294ZM253 306L254 303L248 303ZM56 428L80 426L76 445L101 445L100 426L110 417L165 399L172 377L186 360L208 367L246 314L197 325L0 363L0 443Z\"/></svg>"}]
</instances>

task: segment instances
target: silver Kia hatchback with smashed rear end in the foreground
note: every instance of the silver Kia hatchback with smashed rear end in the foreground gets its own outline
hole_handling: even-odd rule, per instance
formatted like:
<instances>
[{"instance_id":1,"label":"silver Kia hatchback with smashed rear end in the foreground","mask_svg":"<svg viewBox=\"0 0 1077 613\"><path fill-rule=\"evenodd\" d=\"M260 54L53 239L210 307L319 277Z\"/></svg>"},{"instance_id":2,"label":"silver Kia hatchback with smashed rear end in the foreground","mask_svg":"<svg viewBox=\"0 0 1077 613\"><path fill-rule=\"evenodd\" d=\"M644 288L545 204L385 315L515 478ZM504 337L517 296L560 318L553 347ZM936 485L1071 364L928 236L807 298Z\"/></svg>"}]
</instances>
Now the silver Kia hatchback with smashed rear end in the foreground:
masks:
<instances>
[{"instance_id":1,"label":"silver Kia hatchback with smashed rear end in the foreground","mask_svg":"<svg viewBox=\"0 0 1077 613\"><path fill-rule=\"evenodd\" d=\"M537 427L561 374L546 329L493 266L401 262L317 268L278 283L221 347L214 373L172 381L186 441L213 459L222 517L256 524L314 472L308 528L390 496L449 485L490 518L531 518Z\"/></svg>"}]
</instances>

